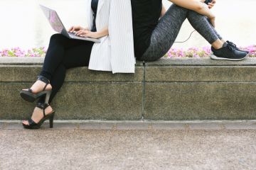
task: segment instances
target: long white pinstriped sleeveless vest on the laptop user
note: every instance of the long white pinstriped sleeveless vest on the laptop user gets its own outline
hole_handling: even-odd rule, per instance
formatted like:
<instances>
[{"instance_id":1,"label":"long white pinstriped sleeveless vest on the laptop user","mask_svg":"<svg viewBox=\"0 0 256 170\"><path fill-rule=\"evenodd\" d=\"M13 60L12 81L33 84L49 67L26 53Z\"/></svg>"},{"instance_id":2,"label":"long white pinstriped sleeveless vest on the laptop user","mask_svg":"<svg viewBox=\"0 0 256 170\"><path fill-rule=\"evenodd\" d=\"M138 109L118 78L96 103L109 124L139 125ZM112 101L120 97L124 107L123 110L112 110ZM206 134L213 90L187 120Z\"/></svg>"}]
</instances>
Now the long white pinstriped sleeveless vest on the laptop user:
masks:
<instances>
[{"instance_id":1,"label":"long white pinstriped sleeveless vest on the laptop user","mask_svg":"<svg viewBox=\"0 0 256 170\"><path fill-rule=\"evenodd\" d=\"M91 1L87 0L87 24L92 28ZM96 28L109 29L92 47L89 69L114 73L134 73L134 40L131 0L99 0Z\"/></svg>"}]
</instances>

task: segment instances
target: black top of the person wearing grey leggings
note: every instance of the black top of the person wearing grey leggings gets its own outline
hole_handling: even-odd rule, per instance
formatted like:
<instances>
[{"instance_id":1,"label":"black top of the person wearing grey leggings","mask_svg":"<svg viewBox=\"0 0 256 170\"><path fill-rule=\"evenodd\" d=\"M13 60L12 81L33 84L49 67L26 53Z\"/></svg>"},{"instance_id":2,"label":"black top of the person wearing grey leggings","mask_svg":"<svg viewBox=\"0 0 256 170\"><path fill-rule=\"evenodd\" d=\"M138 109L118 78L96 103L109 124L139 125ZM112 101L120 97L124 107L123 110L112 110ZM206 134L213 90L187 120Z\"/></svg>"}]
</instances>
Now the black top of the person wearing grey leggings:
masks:
<instances>
[{"instance_id":1,"label":"black top of the person wearing grey leggings","mask_svg":"<svg viewBox=\"0 0 256 170\"><path fill-rule=\"evenodd\" d=\"M151 34L161 16L161 8L161 0L132 0L134 50L137 58L142 57L150 45Z\"/></svg>"}]
</instances>

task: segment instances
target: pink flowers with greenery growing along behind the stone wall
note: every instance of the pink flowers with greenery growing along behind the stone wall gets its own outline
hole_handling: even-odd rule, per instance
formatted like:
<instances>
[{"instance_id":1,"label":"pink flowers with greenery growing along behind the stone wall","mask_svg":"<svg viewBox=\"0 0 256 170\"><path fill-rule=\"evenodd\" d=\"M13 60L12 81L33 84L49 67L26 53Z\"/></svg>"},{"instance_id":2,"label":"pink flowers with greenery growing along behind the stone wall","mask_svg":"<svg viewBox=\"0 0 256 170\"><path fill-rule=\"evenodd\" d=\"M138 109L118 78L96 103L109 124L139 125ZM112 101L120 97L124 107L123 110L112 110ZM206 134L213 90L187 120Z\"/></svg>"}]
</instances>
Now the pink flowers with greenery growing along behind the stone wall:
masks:
<instances>
[{"instance_id":1,"label":"pink flowers with greenery growing along behind the stone wall","mask_svg":"<svg viewBox=\"0 0 256 170\"><path fill-rule=\"evenodd\" d=\"M256 45L241 47L242 50L250 51L250 57L256 57ZM171 48L164 57L209 57L210 47L191 47L186 49ZM32 48L30 50L21 50L20 47L0 50L0 57L45 57L46 47Z\"/></svg>"}]
</instances>

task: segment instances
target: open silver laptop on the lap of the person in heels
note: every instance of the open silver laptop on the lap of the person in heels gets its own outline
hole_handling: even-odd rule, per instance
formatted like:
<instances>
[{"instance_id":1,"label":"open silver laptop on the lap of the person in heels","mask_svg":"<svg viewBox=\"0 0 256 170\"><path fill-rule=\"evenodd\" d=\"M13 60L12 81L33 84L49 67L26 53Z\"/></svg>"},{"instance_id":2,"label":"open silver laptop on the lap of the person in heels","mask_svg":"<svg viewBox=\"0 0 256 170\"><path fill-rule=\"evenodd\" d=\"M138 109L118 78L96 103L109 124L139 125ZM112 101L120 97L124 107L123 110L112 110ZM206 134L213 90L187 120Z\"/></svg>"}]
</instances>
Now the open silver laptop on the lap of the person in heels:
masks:
<instances>
[{"instance_id":1,"label":"open silver laptop on the lap of the person in heels","mask_svg":"<svg viewBox=\"0 0 256 170\"><path fill-rule=\"evenodd\" d=\"M60 17L58 16L58 13L54 11L53 9L47 8L46 6L40 5L41 9L43 10L43 13L45 14L46 18L48 19L50 26L55 30L57 33L61 33L67 38L70 39L77 39L77 40L87 40L92 42L100 42L99 39L95 38L83 38L78 35L75 35L75 33L69 33L66 29L63 23L60 20Z\"/></svg>"}]
</instances>

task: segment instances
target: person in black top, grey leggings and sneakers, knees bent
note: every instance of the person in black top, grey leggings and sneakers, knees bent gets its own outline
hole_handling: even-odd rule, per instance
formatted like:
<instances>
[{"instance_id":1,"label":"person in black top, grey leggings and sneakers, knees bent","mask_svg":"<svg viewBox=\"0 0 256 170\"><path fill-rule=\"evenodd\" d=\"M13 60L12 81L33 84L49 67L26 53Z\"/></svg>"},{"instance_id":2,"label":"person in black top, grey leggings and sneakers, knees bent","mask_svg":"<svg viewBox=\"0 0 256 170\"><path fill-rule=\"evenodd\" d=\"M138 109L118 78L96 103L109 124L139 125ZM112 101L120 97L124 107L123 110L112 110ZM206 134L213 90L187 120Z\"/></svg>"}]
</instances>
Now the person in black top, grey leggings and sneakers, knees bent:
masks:
<instances>
[{"instance_id":1,"label":"person in black top, grey leggings and sneakers, knees bent","mask_svg":"<svg viewBox=\"0 0 256 170\"><path fill-rule=\"evenodd\" d=\"M215 16L210 8L216 0L209 4L205 4L205 0L169 1L174 4L163 12L162 0L131 0L137 60L151 62L163 57L174 44L186 18L212 45L212 59L243 60L247 57L247 51L239 50L233 42L223 40L215 30Z\"/></svg>"}]
</instances>

